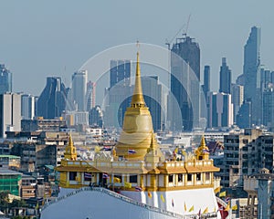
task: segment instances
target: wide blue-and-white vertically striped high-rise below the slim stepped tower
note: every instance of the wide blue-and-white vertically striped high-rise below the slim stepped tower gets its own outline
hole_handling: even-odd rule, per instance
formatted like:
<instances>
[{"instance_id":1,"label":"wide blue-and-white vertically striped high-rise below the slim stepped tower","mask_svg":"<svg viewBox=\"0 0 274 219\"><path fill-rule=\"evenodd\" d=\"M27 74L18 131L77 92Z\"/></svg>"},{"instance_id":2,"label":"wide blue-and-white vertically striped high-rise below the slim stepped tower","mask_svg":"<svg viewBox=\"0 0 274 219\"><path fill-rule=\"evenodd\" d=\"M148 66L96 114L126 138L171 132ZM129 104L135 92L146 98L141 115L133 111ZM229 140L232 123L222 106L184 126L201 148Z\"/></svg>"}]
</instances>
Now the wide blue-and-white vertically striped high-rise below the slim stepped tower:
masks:
<instances>
[{"instance_id":1,"label":"wide blue-and-white vertically striped high-rise below the slim stepped tower","mask_svg":"<svg viewBox=\"0 0 274 219\"><path fill-rule=\"evenodd\" d=\"M209 128L228 128L233 125L233 104L231 94L210 92Z\"/></svg>"}]
</instances>

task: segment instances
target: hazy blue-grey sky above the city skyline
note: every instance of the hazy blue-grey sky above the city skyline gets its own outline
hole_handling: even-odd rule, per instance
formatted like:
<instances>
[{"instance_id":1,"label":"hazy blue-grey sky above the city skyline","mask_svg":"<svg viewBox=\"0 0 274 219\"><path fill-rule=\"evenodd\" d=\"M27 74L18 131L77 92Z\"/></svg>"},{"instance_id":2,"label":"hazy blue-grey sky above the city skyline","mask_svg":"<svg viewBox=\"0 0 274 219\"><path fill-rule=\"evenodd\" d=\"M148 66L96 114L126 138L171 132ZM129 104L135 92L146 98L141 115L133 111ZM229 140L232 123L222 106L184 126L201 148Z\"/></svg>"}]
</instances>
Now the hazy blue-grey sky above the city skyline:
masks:
<instances>
[{"instance_id":1,"label":"hazy blue-grey sky above the city skyline","mask_svg":"<svg viewBox=\"0 0 274 219\"><path fill-rule=\"evenodd\" d=\"M213 89L222 57L233 81L242 73L251 26L261 27L261 63L274 70L273 0L0 0L0 8L0 63L13 72L14 91L39 95L47 76L68 86L74 71L109 47L137 39L165 47L189 15L187 34L199 43L201 75L211 66Z\"/></svg>"}]
</instances>

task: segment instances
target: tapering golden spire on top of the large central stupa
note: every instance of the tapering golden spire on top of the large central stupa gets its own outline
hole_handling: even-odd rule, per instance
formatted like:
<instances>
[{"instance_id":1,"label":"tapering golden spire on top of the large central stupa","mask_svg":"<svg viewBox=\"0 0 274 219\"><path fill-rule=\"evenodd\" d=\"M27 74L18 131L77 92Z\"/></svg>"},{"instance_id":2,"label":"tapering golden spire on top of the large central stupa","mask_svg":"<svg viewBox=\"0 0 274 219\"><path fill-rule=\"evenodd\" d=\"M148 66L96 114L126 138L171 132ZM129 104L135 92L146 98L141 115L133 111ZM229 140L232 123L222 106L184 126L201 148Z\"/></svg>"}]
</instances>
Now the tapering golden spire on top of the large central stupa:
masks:
<instances>
[{"instance_id":1,"label":"tapering golden spire on top of the large central stupa","mask_svg":"<svg viewBox=\"0 0 274 219\"><path fill-rule=\"evenodd\" d=\"M141 71L140 71L140 60L139 51L137 52L137 62L136 62L136 74L135 74L135 88L132 95L132 108L143 108L145 107L145 102L142 96L142 82L141 82Z\"/></svg>"}]
</instances>

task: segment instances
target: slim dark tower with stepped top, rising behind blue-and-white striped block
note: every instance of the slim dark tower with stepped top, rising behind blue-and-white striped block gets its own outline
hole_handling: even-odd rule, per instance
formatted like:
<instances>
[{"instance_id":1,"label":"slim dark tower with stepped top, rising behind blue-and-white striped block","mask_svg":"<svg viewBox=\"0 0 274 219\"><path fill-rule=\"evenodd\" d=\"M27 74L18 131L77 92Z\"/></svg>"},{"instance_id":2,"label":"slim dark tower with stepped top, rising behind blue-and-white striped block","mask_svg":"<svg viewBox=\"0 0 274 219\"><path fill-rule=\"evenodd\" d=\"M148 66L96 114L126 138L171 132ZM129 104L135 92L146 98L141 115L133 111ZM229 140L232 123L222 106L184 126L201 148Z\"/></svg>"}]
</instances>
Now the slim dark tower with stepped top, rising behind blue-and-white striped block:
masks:
<instances>
[{"instance_id":1,"label":"slim dark tower with stepped top, rising behind blue-and-white striped block","mask_svg":"<svg viewBox=\"0 0 274 219\"><path fill-rule=\"evenodd\" d=\"M231 70L227 66L227 58L222 58L222 66L220 68L220 93L231 94Z\"/></svg>"}]
</instances>

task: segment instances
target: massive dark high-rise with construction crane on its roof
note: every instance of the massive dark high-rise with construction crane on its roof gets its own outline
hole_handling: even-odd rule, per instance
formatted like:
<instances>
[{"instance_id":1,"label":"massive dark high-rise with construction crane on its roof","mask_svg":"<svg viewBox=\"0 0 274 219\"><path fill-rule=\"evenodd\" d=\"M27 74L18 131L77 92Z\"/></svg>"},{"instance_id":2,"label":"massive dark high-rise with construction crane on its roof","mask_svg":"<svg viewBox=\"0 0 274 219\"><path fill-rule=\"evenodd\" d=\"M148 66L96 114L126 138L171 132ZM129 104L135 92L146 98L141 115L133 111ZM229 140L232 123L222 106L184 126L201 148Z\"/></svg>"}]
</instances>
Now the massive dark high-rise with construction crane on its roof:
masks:
<instances>
[{"instance_id":1,"label":"massive dark high-rise with construction crane on its roof","mask_svg":"<svg viewBox=\"0 0 274 219\"><path fill-rule=\"evenodd\" d=\"M184 36L177 38L171 51L171 91L181 110L183 130L192 130L200 120L200 47ZM181 123L173 118L171 127L182 130Z\"/></svg>"}]
</instances>

